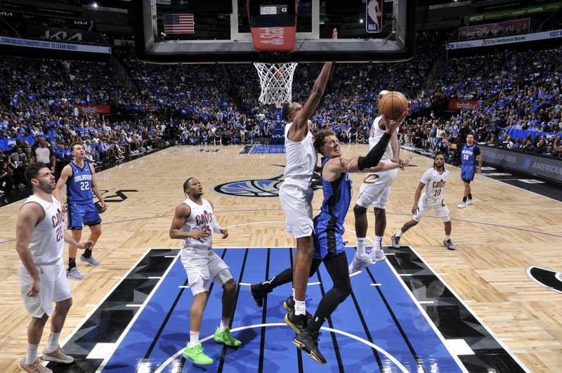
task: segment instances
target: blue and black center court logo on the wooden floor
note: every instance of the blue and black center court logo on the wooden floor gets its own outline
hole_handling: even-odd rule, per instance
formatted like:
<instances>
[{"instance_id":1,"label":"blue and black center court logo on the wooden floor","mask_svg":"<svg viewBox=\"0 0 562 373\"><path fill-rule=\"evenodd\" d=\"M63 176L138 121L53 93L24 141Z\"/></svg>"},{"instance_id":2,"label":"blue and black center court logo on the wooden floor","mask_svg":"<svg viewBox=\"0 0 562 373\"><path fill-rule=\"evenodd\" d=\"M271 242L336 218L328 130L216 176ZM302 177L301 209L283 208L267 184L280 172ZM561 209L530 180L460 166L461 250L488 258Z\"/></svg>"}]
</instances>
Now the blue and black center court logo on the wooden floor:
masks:
<instances>
[{"instance_id":1,"label":"blue and black center court logo on the wooden floor","mask_svg":"<svg viewBox=\"0 0 562 373\"><path fill-rule=\"evenodd\" d=\"M279 197L279 187L283 182L282 177L282 175L279 175L270 179L232 181L216 185L213 190L223 195L236 197ZM311 188L312 190L322 188L319 174L313 175Z\"/></svg>"}]
</instances>

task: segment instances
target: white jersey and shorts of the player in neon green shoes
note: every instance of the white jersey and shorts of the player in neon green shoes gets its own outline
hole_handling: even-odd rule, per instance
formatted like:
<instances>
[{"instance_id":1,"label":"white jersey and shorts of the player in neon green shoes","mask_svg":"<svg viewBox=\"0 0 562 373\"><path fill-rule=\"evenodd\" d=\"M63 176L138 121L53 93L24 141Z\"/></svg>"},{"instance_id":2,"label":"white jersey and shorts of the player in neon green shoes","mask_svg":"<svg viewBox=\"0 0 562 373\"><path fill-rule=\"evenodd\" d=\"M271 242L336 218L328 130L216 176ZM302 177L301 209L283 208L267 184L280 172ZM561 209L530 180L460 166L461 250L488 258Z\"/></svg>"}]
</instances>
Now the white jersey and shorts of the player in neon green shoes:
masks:
<instances>
[{"instance_id":1,"label":"white jersey and shorts of the player in neon green shoes","mask_svg":"<svg viewBox=\"0 0 562 373\"><path fill-rule=\"evenodd\" d=\"M214 211L207 199L202 199L202 201L202 204L196 204L189 198L183 201L191 208L191 214L185 219L181 229L207 232L207 237L202 240L192 237L183 239L181 263L185 268L185 273L188 274L193 295L208 292L211 282L222 286L233 278L228 270L229 267L213 250Z\"/></svg>"}]
</instances>

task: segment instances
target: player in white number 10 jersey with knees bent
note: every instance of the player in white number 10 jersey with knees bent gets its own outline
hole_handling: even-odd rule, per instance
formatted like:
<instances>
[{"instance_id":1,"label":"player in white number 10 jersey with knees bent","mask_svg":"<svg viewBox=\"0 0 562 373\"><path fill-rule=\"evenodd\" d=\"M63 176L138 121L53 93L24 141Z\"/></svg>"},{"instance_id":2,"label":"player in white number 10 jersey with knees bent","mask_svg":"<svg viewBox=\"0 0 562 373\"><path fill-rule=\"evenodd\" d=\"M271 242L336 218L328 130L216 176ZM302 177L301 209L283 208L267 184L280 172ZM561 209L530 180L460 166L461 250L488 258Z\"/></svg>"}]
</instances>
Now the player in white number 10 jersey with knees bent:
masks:
<instances>
[{"instance_id":1,"label":"player in white number 10 jersey with knees bent","mask_svg":"<svg viewBox=\"0 0 562 373\"><path fill-rule=\"evenodd\" d=\"M421 181L414 195L414 207L412 207L412 220L408 221L398 230L396 235L391 237L392 246L397 249L400 247L400 237L410 228L414 227L421 221L429 211L435 210L439 218L443 220L445 225L445 240L443 244L447 249L455 250L455 245L451 242L451 218L449 216L449 208L445 204L445 184L449 171L445 169L445 155L437 152L433 157L433 167L424 172ZM424 194L421 195L421 191ZM421 197L421 198L420 198Z\"/></svg>"}]
</instances>

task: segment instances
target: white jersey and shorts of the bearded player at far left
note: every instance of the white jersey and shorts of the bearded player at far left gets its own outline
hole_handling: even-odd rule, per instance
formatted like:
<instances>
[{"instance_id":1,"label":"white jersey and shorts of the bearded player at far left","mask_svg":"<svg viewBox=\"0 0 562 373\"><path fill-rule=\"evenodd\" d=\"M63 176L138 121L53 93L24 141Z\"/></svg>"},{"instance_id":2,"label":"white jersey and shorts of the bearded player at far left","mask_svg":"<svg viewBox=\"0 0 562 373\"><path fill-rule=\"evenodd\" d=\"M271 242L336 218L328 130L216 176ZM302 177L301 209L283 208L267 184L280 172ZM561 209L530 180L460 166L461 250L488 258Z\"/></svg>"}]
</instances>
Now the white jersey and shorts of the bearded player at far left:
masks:
<instances>
[{"instance_id":1,"label":"white jersey and shorts of the bearded player at far left","mask_svg":"<svg viewBox=\"0 0 562 373\"><path fill-rule=\"evenodd\" d=\"M27 296L31 286L31 276L20 261L20 291L27 313L41 318L53 313L53 302L65 301L72 297L72 290L66 277L63 251L65 249L65 216L58 200L52 202L32 195L24 204L35 202L45 212L45 218L34 226L30 240L33 264L39 273L39 294Z\"/></svg>"}]
</instances>

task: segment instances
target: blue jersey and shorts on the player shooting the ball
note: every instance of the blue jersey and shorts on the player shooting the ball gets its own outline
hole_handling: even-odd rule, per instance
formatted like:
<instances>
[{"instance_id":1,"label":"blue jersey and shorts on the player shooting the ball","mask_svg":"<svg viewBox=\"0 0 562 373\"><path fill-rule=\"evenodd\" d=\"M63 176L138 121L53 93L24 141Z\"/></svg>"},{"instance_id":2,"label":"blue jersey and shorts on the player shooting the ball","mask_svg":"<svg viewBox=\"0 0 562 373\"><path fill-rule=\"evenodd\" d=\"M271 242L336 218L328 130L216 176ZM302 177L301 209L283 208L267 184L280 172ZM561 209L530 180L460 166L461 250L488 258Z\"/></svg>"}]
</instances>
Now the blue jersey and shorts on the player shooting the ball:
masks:
<instances>
[{"instance_id":1,"label":"blue jersey and shorts on the player shooting the ball","mask_svg":"<svg viewBox=\"0 0 562 373\"><path fill-rule=\"evenodd\" d=\"M324 165L330 158L322 159L320 176ZM341 173L336 181L325 181L322 178L324 200L320 214L314 218L314 257L328 259L330 256L344 251L344 221L351 204L353 181L351 175Z\"/></svg>"}]
</instances>

